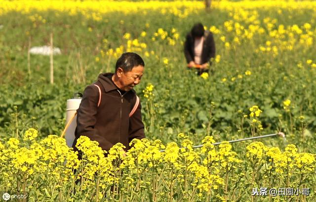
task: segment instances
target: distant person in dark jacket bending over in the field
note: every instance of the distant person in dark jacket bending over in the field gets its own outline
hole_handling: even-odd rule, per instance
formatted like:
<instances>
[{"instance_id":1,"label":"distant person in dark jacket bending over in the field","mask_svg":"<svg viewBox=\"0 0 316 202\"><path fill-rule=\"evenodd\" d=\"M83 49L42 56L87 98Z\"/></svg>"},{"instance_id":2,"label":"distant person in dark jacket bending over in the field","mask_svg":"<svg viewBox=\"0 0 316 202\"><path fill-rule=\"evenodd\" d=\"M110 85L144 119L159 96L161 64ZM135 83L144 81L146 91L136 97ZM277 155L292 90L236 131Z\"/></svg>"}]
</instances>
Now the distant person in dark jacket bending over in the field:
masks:
<instances>
[{"instance_id":1,"label":"distant person in dark jacket bending over in the field","mask_svg":"<svg viewBox=\"0 0 316 202\"><path fill-rule=\"evenodd\" d=\"M215 56L213 34L205 31L201 23L193 26L184 43L184 55L189 68L199 68L197 74L208 72L211 58Z\"/></svg>"}]
</instances>

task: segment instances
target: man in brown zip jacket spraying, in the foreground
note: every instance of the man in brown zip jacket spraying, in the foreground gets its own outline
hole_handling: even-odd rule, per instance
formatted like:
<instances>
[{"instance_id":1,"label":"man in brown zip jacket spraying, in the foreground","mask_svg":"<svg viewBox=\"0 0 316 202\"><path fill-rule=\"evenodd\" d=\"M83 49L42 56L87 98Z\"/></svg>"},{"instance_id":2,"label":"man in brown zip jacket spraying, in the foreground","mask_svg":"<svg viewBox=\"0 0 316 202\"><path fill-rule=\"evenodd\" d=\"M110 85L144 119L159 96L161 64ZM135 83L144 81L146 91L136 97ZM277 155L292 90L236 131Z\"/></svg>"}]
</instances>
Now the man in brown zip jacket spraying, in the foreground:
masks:
<instances>
[{"instance_id":1,"label":"man in brown zip jacket spraying, in the foreground","mask_svg":"<svg viewBox=\"0 0 316 202\"><path fill-rule=\"evenodd\" d=\"M73 147L81 135L99 142L109 151L120 142L126 150L132 139L145 138L141 104L133 87L140 83L145 63L136 53L123 53L115 73L100 74L88 85L77 110L77 128Z\"/></svg>"}]
</instances>

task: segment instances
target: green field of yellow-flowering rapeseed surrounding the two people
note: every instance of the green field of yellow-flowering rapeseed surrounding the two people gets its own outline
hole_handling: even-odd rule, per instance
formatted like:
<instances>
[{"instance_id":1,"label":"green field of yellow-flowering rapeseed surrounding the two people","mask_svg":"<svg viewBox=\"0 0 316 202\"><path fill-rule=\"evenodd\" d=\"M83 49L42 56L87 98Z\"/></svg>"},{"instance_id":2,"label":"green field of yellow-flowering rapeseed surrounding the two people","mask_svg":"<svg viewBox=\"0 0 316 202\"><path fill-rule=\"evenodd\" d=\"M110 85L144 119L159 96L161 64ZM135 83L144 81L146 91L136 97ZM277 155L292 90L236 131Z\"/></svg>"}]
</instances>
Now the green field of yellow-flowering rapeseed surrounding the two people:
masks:
<instances>
[{"instance_id":1,"label":"green field of yellow-flowering rapeseed surrounding the two people","mask_svg":"<svg viewBox=\"0 0 316 202\"><path fill-rule=\"evenodd\" d=\"M0 201L315 202L315 20L313 0L212 0L210 10L0 0ZM216 45L201 76L183 53L197 22ZM51 44L60 54L30 51ZM78 160L60 138L67 99L114 72L123 52L145 61L134 89L147 139L105 158L83 137Z\"/></svg>"}]
</instances>

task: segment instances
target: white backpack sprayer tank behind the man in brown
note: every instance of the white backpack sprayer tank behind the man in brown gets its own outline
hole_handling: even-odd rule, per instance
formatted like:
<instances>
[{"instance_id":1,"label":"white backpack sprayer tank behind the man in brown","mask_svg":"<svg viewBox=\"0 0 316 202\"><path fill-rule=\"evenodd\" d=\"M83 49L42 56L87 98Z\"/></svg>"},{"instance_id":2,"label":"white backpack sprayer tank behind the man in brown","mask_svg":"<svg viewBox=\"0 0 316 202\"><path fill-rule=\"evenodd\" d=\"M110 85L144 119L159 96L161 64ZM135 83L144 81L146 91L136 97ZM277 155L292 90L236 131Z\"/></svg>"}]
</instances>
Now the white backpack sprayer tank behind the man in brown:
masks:
<instances>
[{"instance_id":1,"label":"white backpack sprayer tank behind the man in brown","mask_svg":"<svg viewBox=\"0 0 316 202\"><path fill-rule=\"evenodd\" d=\"M67 109L66 109L66 125L69 121L71 121L70 125L66 129L66 143L68 147L73 146L73 142L75 140L75 129L77 127L77 115L74 119L73 116L77 112L77 109L79 108L81 102L81 98L72 98L67 100ZM71 120L72 119L72 120Z\"/></svg>"}]
</instances>

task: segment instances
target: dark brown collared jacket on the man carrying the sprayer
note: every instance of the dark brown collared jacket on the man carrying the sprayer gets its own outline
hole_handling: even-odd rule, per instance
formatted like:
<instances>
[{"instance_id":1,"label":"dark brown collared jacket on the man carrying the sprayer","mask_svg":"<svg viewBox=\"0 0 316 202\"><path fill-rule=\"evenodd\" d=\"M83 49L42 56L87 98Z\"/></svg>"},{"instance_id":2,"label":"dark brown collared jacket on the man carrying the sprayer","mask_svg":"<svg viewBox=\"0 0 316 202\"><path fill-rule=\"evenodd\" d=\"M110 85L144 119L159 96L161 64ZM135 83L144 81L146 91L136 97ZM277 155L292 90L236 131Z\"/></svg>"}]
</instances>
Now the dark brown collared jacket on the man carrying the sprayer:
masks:
<instances>
[{"instance_id":1,"label":"dark brown collared jacket on the man carrying the sprayer","mask_svg":"<svg viewBox=\"0 0 316 202\"><path fill-rule=\"evenodd\" d=\"M129 118L129 113L136 102L136 92L132 89L120 95L117 86L107 76L111 73L100 74L97 84L101 88L102 97L99 101L97 86L88 85L77 110L77 128L75 130L75 145L80 135L85 135L91 140L99 142L99 146L106 151L120 142L126 150L129 142L134 139L145 138L144 124L142 121L141 104Z\"/></svg>"}]
</instances>

